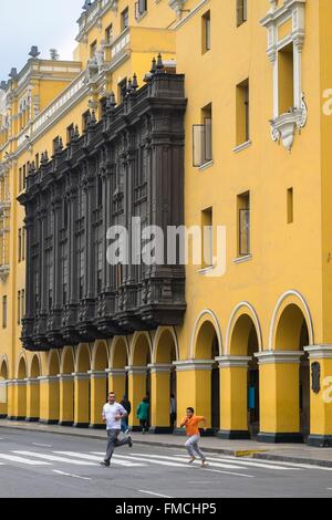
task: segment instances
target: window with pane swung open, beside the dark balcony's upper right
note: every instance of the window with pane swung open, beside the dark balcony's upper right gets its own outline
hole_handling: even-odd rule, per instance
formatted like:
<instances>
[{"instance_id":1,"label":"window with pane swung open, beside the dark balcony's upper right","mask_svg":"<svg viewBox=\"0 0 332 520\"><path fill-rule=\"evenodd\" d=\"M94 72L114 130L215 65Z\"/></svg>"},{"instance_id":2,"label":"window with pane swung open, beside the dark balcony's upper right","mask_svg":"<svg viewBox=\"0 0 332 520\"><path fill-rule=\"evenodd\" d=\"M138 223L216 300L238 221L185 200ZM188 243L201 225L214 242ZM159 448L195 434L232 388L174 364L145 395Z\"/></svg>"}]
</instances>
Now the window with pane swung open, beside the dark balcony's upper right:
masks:
<instances>
[{"instance_id":1,"label":"window with pane swung open, beside the dark balcony's upper right","mask_svg":"<svg viewBox=\"0 0 332 520\"><path fill-rule=\"evenodd\" d=\"M200 113L201 124L193 127L193 160L195 167L212 160L212 104Z\"/></svg>"}]
</instances>

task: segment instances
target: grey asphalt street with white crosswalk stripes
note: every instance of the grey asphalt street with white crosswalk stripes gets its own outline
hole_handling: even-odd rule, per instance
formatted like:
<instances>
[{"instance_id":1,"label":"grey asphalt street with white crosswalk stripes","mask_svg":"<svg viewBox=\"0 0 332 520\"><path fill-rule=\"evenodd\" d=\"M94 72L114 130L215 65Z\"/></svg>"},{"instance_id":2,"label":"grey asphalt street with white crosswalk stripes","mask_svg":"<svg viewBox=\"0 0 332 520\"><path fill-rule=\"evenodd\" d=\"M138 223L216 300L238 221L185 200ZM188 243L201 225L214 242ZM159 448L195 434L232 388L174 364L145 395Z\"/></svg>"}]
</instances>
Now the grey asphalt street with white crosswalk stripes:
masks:
<instances>
[{"instance_id":1,"label":"grey asphalt street with white crosswalk stripes","mask_svg":"<svg viewBox=\"0 0 332 520\"><path fill-rule=\"evenodd\" d=\"M106 443L1 428L1 498L332 497L332 468L134 444L100 466Z\"/></svg>"}]
</instances>

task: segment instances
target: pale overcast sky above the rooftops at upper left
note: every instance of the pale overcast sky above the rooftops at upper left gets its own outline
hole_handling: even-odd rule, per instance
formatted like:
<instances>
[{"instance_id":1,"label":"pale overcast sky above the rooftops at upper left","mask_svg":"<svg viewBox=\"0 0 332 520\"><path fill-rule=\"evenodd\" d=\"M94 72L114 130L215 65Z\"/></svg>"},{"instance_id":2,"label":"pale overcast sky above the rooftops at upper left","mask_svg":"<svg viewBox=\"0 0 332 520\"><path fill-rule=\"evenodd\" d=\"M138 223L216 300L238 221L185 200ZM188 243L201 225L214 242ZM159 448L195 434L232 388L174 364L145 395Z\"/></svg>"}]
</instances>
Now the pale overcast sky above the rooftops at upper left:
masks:
<instances>
[{"instance_id":1,"label":"pale overcast sky above the rooftops at upper left","mask_svg":"<svg viewBox=\"0 0 332 520\"><path fill-rule=\"evenodd\" d=\"M77 34L76 20L84 0L0 0L0 81L8 80L11 67L20 71L32 45L40 58L50 49L60 58L72 59Z\"/></svg>"}]
</instances>

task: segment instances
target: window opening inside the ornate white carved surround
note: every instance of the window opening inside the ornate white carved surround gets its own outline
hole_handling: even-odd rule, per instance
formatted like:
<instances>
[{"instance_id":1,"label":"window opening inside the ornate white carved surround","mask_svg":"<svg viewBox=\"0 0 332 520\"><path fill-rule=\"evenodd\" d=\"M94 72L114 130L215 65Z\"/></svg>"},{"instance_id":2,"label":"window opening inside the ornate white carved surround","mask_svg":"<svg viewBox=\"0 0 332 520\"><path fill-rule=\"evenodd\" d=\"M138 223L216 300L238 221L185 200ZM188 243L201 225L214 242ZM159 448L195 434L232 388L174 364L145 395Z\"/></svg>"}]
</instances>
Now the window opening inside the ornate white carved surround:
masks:
<instances>
[{"instance_id":1,"label":"window opening inside the ornate white carved surround","mask_svg":"<svg viewBox=\"0 0 332 520\"><path fill-rule=\"evenodd\" d=\"M294 106L294 55L293 44L278 52L278 101L279 115Z\"/></svg>"}]
</instances>

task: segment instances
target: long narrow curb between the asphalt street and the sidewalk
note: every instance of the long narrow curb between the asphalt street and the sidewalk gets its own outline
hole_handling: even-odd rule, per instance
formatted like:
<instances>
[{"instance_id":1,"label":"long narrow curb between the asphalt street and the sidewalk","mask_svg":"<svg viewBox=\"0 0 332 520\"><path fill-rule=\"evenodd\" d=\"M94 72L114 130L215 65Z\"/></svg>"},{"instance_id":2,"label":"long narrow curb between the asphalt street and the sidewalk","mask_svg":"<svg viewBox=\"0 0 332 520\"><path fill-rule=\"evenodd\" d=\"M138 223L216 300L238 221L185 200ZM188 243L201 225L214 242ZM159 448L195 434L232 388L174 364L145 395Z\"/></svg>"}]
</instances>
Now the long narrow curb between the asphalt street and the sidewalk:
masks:
<instances>
[{"instance_id":1,"label":"long narrow curb between the asphalt street and the sidewalk","mask_svg":"<svg viewBox=\"0 0 332 520\"><path fill-rule=\"evenodd\" d=\"M22 427L15 425L3 425L0 422L0 430L1 428L20 430L20 431L30 431L30 433L41 433L41 434L51 434L51 435L63 435L68 437L79 437L79 438L86 438L86 439L94 439L94 440L104 440L103 437L100 435L94 435L92 433L83 434L80 433L80 429L74 431L56 431L56 429L38 429L32 427ZM175 443L165 443L160 440L139 440L133 438L135 444L142 446L156 446L156 447L164 447L164 448L176 448L176 449L185 449L184 445L178 445ZM218 455L229 455L232 457L250 457L252 459L261 459L261 460L276 460L280 462L294 462L294 464L305 464L310 466L321 466L325 468L332 468L332 460L322 460L322 459L311 459L304 457L297 457L297 456L288 456L288 455L277 455L271 454L270 449L247 449L247 450L239 450L239 449L231 449L231 448L209 448L204 446L204 451L207 454L218 454Z\"/></svg>"}]
</instances>

